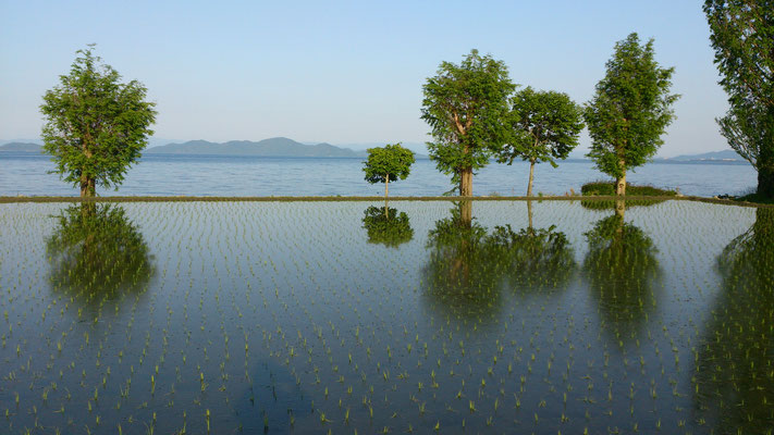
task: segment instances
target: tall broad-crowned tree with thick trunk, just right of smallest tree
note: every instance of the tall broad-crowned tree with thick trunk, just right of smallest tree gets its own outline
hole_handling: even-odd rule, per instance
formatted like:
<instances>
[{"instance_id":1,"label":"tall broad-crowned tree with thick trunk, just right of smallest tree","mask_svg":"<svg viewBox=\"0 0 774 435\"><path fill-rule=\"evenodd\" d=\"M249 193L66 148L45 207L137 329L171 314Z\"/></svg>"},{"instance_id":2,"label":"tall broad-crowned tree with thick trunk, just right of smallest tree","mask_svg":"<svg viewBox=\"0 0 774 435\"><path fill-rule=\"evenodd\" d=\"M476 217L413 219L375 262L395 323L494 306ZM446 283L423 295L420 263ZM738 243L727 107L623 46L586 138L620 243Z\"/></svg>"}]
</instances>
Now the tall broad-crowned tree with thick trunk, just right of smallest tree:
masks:
<instances>
[{"instance_id":1,"label":"tall broad-crowned tree with thick trunk, just right of smallest tree","mask_svg":"<svg viewBox=\"0 0 774 435\"><path fill-rule=\"evenodd\" d=\"M471 50L459 65L442 62L422 87L422 120L432 128L430 159L452 174L459 195L472 196L474 171L507 140L508 96L516 86L502 61Z\"/></svg>"}]
</instances>

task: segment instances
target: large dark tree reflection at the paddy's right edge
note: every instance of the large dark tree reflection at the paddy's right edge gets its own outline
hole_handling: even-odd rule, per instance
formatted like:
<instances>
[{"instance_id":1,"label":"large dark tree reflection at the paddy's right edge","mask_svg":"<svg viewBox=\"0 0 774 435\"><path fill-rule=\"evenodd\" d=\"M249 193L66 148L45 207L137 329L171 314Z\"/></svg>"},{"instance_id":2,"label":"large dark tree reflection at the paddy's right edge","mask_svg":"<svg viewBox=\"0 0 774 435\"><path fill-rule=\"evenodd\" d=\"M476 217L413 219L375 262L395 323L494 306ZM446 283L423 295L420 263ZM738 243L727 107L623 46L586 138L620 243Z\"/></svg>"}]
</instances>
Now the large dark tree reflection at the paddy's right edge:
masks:
<instances>
[{"instance_id":1,"label":"large dark tree reflection at the paddy's right edge","mask_svg":"<svg viewBox=\"0 0 774 435\"><path fill-rule=\"evenodd\" d=\"M696 364L698 417L717 434L774 427L774 210L717 258L721 293ZM769 431L769 432L766 432Z\"/></svg>"}]
</instances>

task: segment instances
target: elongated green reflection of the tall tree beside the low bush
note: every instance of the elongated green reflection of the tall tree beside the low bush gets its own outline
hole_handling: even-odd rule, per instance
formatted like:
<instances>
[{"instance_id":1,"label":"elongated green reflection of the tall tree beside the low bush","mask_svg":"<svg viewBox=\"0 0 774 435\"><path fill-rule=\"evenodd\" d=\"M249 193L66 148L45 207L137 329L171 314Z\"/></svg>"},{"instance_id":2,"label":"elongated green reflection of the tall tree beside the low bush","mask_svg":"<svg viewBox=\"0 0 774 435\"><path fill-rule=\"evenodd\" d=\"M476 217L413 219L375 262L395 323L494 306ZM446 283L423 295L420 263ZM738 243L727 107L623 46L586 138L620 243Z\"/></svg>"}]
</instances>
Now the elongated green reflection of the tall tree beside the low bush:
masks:
<instances>
[{"instance_id":1,"label":"elongated green reflection of the tall tree beside the low bush","mask_svg":"<svg viewBox=\"0 0 774 435\"><path fill-rule=\"evenodd\" d=\"M617 346L635 341L655 310L661 268L653 240L625 222L627 202L585 233L589 251L583 274L598 303L600 320Z\"/></svg>"}]
</instances>

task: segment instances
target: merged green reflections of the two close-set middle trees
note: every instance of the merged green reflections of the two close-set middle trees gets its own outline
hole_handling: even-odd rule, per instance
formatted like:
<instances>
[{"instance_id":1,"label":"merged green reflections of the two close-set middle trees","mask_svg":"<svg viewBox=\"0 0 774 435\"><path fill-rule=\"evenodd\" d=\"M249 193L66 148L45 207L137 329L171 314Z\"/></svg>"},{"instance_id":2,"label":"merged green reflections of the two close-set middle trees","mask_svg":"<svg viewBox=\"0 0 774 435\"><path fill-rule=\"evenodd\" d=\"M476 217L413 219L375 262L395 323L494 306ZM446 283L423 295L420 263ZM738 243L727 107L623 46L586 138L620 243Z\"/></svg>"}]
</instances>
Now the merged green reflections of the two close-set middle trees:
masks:
<instances>
[{"instance_id":1,"label":"merged green reflections of the two close-set middle trees","mask_svg":"<svg viewBox=\"0 0 774 435\"><path fill-rule=\"evenodd\" d=\"M435 304L454 316L493 316L503 291L535 294L565 285L576 269L570 244L555 226L491 233L474 222L471 202L462 201L452 216L435 222L428 235L430 258L423 283Z\"/></svg>"}]
</instances>

